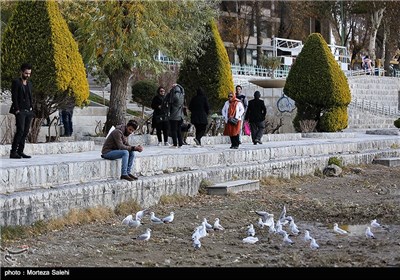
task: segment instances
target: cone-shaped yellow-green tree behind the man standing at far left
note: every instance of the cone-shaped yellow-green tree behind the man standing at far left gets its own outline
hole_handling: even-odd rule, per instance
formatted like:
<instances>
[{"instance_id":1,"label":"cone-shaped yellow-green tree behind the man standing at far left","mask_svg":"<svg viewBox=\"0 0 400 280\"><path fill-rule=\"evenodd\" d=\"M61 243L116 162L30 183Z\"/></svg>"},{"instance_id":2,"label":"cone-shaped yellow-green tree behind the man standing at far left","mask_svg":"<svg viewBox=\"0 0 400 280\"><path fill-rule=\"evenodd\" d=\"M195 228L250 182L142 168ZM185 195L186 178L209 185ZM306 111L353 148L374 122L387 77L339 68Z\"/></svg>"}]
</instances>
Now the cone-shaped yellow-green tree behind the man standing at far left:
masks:
<instances>
[{"instance_id":1,"label":"cone-shaped yellow-green tree behind the man standing at far left","mask_svg":"<svg viewBox=\"0 0 400 280\"><path fill-rule=\"evenodd\" d=\"M57 2L21 1L7 23L1 43L1 86L10 89L23 62L32 64L33 109L30 142L41 123L58 108L89 97L85 67Z\"/></svg>"}]
</instances>

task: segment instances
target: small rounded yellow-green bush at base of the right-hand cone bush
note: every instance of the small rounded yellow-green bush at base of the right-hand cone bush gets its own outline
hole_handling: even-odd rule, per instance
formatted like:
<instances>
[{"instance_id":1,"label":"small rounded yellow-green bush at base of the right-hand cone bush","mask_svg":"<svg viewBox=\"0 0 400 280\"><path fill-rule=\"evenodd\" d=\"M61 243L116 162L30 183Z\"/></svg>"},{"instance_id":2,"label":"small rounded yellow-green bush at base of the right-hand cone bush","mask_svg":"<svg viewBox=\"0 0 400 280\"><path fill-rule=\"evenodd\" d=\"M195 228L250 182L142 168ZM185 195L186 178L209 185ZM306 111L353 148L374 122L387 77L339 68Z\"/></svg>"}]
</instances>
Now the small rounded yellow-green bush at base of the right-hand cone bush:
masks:
<instances>
[{"instance_id":1,"label":"small rounded yellow-green bush at base of the right-hand cone bush","mask_svg":"<svg viewBox=\"0 0 400 280\"><path fill-rule=\"evenodd\" d=\"M325 112L319 121L320 131L335 132L347 127L347 107L332 107Z\"/></svg>"}]
</instances>

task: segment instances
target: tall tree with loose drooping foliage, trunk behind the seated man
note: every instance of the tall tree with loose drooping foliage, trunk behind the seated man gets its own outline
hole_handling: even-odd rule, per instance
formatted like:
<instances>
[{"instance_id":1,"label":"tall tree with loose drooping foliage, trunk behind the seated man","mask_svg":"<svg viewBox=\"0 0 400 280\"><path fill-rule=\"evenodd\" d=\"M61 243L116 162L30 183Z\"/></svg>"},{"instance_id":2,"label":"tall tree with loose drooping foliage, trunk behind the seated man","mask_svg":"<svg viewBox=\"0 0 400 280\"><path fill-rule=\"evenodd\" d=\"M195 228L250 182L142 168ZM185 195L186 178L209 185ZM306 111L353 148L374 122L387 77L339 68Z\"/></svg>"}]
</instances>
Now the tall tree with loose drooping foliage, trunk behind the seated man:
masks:
<instances>
[{"instance_id":1,"label":"tall tree with loose drooping foliage, trunk behind the seated man","mask_svg":"<svg viewBox=\"0 0 400 280\"><path fill-rule=\"evenodd\" d=\"M65 14L91 66L111 82L104 131L125 122L127 85L135 67L162 71L158 50L182 59L199 51L205 24L215 16L213 1L64 2Z\"/></svg>"}]
</instances>

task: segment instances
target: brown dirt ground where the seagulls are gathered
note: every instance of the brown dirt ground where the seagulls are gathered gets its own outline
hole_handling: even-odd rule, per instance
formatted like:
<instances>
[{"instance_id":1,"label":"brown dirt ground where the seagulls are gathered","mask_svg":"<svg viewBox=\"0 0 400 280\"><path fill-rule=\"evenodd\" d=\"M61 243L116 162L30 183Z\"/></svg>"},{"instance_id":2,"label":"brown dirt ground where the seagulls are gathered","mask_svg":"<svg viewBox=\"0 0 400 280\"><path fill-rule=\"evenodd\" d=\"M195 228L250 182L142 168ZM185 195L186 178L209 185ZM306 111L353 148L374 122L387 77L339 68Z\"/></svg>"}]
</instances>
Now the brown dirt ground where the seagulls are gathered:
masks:
<instances>
[{"instance_id":1,"label":"brown dirt ground where the seagulls are gathered","mask_svg":"<svg viewBox=\"0 0 400 280\"><path fill-rule=\"evenodd\" d=\"M255 210L278 219L283 205L301 233L290 235L293 245L257 226ZM199 194L149 209L157 216L175 212L171 224L151 224L149 215L137 229L110 220L68 227L40 236L3 243L8 248L29 246L16 255L20 267L399 267L400 167L347 167L341 177L265 178L259 191L227 196ZM210 232L192 247L191 235L203 218L215 218L225 230ZM377 219L383 228L365 229ZM339 236L333 224L350 233ZM247 226L254 224L259 241L245 244ZM150 228L151 238L135 238ZM287 226L284 230L290 231ZM320 248L304 241L308 229ZM10 265L5 263L4 265Z\"/></svg>"}]
</instances>

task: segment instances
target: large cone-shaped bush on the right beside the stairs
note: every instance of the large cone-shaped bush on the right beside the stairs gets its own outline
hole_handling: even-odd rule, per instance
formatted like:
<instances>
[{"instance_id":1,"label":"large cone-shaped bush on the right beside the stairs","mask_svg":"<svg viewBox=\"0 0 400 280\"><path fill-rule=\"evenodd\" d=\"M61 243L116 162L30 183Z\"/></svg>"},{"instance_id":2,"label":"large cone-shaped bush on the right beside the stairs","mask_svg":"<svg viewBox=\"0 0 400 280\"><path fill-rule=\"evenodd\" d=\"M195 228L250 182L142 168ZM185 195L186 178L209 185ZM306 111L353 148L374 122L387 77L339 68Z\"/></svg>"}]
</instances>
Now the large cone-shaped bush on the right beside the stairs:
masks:
<instances>
[{"instance_id":1,"label":"large cone-shaped bush on the right beside the stairs","mask_svg":"<svg viewBox=\"0 0 400 280\"><path fill-rule=\"evenodd\" d=\"M347 78L321 34L312 33L307 38L286 79L284 93L296 102L298 114L296 122L311 115L318 122L318 131L325 131L326 127L335 128L335 131L347 127L347 111L346 116L340 117L338 124L321 126L323 122L320 118L325 112L344 113L330 109L347 107L351 101ZM311 113L308 110L311 110ZM325 118L327 119L325 123L330 122L331 116ZM295 124L295 128L298 127L299 124Z\"/></svg>"}]
</instances>

